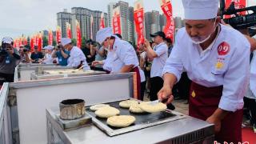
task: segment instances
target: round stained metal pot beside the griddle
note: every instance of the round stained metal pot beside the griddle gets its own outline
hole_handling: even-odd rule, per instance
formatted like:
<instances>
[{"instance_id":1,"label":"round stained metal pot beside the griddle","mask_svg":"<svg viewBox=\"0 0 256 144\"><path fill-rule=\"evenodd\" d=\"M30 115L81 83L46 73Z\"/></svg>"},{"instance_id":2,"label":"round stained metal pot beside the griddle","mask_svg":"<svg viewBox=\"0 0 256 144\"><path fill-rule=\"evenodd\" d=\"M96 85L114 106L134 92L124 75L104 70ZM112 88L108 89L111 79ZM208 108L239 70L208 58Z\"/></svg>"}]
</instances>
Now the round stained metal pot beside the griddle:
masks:
<instances>
[{"instance_id":1,"label":"round stained metal pot beside the griddle","mask_svg":"<svg viewBox=\"0 0 256 144\"><path fill-rule=\"evenodd\" d=\"M74 120L85 115L85 101L82 99L66 99L59 103L60 118Z\"/></svg>"}]
</instances>

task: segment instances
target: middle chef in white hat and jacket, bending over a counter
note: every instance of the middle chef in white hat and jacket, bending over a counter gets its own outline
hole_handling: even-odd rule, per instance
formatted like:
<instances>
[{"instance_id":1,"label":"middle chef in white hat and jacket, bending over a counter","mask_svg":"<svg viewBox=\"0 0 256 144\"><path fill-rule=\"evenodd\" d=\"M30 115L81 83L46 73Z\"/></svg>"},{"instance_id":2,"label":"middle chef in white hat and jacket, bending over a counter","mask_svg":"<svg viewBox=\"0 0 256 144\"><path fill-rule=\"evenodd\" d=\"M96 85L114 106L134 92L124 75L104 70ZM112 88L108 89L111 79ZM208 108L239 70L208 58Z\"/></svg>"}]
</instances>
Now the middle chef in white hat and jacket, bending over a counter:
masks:
<instances>
[{"instance_id":1,"label":"middle chef in white hat and jacket, bending over a counter","mask_svg":"<svg viewBox=\"0 0 256 144\"><path fill-rule=\"evenodd\" d=\"M103 64L103 69L110 73L128 73L137 74L137 97L140 97L140 83L146 81L144 72L138 66L138 57L134 47L129 42L123 41L112 33L112 28L106 27L98 30L96 41L108 51L105 61L93 62L93 65Z\"/></svg>"}]
</instances>

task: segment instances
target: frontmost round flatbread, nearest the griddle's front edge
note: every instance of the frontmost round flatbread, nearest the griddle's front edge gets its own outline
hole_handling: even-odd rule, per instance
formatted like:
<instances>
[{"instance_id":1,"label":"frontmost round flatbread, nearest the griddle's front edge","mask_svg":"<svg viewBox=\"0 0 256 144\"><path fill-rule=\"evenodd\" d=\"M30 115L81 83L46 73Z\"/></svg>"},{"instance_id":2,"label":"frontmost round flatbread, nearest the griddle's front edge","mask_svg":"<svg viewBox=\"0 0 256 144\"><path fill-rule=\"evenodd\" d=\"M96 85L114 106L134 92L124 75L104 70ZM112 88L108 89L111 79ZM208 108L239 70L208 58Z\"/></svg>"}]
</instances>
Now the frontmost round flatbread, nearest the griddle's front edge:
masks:
<instances>
[{"instance_id":1,"label":"frontmost round flatbread, nearest the griddle's front edge","mask_svg":"<svg viewBox=\"0 0 256 144\"><path fill-rule=\"evenodd\" d=\"M106 123L114 127L127 127L135 122L136 118L131 115L118 115L107 118Z\"/></svg>"}]
</instances>

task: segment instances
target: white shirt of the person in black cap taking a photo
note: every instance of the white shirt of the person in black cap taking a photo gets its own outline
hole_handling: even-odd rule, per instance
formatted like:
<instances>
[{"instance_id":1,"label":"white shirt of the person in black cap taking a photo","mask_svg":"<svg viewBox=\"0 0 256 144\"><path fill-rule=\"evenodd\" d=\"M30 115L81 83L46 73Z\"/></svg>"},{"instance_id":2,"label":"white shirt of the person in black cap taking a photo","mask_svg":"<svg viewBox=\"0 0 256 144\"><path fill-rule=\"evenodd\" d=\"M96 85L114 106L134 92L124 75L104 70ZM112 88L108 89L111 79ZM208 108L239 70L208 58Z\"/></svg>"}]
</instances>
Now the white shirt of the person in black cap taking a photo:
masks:
<instances>
[{"instance_id":1,"label":"white shirt of the person in black cap taking a photo","mask_svg":"<svg viewBox=\"0 0 256 144\"><path fill-rule=\"evenodd\" d=\"M158 55L158 57L153 59L150 70L150 78L162 77L162 70L166 64L166 59L168 58L168 46L165 42L162 42L157 46L154 46L154 52Z\"/></svg>"}]
</instances>

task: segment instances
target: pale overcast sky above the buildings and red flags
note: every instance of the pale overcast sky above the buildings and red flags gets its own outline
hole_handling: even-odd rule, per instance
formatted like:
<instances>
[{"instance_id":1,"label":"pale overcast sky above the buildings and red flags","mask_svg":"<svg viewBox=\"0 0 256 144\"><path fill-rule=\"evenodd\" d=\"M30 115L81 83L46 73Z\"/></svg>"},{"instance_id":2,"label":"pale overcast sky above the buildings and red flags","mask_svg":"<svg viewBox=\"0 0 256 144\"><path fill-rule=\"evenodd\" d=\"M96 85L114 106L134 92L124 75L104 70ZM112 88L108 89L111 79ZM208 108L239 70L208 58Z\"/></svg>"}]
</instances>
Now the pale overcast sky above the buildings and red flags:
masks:
<instances>
[{"instance_id":1,"label":"pale overcast sky above the buildings and red flags","mask_svg":"<svg viewBox=\"0 0 256 144\"><path fill-rule=\"evenodd\" d=\"M123 0L134 6L135 0ZM248 0L255 5L255 0ZM118 0L0 0L0 38L34 34L40 30L55 30L58 12L81 6L90 10L107 13L107 4ZM183 16L182 0L172 0L174 17ZM158 10L162 13L158 0L144 0L145 11Z\"/></svg>"}]
</instances>

